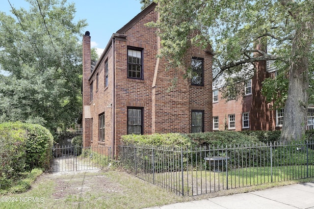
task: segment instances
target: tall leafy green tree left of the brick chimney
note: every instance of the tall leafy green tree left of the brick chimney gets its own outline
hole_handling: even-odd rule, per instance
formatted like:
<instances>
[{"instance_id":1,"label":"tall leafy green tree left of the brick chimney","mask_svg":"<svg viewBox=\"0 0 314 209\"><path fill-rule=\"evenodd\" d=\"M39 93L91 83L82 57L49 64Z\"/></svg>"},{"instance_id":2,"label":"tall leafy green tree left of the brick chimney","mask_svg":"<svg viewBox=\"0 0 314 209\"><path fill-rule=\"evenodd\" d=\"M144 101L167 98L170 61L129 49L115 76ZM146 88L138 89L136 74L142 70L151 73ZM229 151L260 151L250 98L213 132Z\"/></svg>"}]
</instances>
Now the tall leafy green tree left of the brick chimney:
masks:
<instances>
[{"instance_id":1,"label":"tall leafy green tree left of the brick chimney","mask_svg":"<svg viewBox=\"0 0 314 209\"><path fill-rule=\"evenodd\" d=\"M29 9L0 12L0 122L68 128L81 112L80 31L74 3L27 0Z\"/></svg>"}]
</instances>

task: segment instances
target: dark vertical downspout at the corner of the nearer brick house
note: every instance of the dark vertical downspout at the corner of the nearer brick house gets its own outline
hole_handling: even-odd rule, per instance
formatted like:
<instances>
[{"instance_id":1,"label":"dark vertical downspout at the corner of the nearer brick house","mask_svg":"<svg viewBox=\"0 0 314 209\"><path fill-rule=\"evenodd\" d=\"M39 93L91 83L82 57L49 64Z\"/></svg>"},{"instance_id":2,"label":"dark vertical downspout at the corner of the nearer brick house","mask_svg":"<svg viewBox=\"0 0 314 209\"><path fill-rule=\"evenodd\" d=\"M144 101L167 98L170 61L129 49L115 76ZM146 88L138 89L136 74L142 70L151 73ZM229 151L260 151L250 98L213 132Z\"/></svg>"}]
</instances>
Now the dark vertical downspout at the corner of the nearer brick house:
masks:
<instances>
[{"instance_id":1,"label":"dark vertical downspout at the corner of the nearer brick house","mask_svg":"<svg viewBox=\"0 0 314 209\"><path fill-rule=\"evenodd\" d=\"M116 45L115 45L115 37L113 36L111 39L111 46L112 46L112 149L111 149L111 158L114 159L115 157L115 95L116 95L116 89L115 89L115 53L116 53Z\"/></svg>"}]
</instances>

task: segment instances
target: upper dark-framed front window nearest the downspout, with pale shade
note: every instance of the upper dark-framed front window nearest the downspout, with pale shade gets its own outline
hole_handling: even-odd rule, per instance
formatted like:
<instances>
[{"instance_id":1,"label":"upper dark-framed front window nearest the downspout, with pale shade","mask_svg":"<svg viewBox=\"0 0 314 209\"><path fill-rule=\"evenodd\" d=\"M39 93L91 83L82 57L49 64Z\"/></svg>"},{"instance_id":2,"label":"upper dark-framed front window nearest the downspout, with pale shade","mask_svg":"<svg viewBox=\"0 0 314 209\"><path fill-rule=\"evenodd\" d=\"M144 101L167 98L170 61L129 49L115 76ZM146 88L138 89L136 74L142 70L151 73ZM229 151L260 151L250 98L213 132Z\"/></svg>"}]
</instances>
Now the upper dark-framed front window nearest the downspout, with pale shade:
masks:
<instances>
[{"instance_id":1,"label":"upper dark-framed front window nearest the downspout, with pale shade","mask_svg":"<svg viewBox=\"0 0 314 209\"><path fill-rule=\"evenodd\" d=\"M128 78L143 79L143 50L128 49Z\"/></svg>"}]
</instances>

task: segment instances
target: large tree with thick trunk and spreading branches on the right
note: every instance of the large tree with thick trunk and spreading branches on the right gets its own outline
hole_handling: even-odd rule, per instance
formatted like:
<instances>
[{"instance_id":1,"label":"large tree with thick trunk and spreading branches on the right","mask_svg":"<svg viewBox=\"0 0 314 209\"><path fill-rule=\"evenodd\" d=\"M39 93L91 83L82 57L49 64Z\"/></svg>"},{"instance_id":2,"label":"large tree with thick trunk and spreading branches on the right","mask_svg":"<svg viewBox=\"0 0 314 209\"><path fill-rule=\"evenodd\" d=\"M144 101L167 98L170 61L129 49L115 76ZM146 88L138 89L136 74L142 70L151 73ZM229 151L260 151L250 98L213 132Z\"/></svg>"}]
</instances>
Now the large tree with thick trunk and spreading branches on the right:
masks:
<instances>
[{"instance_id":1,"label":"large tree with thick trunk and spreading branches on the right","mask_svg":"<svg viewBox=\"0 0 314 209\"><path fill-rule=\"evenodd\" d=\"M313 72L313 0L155 0L160 56L183 66L191 45L215 53L213 78L242 72L248 63L275 60L288 75L282 140L301 138ZM256 44L267 45L259 50ZM246 72L245 76L250 75ZM252 75L252 74L251 74ZM312 75L312 74L311 74ZM234 79L235 80L235 79Z\"/></svg>"}]
</instances>

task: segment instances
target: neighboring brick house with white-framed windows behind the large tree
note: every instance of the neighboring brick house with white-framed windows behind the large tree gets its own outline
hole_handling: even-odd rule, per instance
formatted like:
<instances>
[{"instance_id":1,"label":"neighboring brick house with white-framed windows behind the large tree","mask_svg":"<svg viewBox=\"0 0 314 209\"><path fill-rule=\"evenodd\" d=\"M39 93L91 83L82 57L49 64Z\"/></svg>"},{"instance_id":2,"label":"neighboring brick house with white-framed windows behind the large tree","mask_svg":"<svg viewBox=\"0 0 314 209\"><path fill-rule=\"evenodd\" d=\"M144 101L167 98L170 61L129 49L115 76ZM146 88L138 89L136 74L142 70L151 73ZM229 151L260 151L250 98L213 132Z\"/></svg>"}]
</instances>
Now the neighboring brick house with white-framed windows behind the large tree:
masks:
<instances>
[{"instance_id":1,"label":"neighboring brick house with white-framed windows behind the large tree","mask_svg":"<svg viewBox=\"0 0 314 209\"><path fill-rule=\"evenodd\" d=\"M272 103L266 103L262 96L262 81L275 78L276 68L273 61L260 61L256 72L244 85L244 96L226 102L219 91L221 85L213 84L213 131L274 131L281 130L284 120L284 109L272 109ZM253 66L251 66L253 68ZM307 130L314 129L314 106L308 107Z\"/></svg>"}]
</instances>

